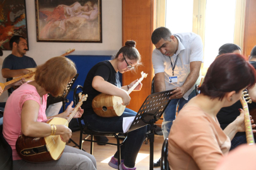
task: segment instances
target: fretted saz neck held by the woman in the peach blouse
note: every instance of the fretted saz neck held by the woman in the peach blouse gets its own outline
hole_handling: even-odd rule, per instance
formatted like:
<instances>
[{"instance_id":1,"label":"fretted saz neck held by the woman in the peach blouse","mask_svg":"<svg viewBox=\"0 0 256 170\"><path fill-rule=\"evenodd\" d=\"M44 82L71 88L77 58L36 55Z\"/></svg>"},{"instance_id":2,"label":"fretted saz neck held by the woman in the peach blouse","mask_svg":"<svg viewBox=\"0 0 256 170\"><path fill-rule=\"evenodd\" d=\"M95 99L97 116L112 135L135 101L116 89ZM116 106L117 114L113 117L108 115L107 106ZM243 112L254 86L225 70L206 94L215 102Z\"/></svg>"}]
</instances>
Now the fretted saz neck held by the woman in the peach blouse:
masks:
<instances>
[{"instance_id":1,"label":"fretted saz neck held by the woman in the peach blouse","mask_svg":"<svg viewBox=\"0 0 256 170\"><path fill-rule=\"evenodd\" d=\"M247 101L245 99L249 99L248 103L252 103L252 100L250 97L248 97L249 94L247 94L247 91L243 91L243 94L240 98L241 105L243 106L243 111L245 112L245 133L247 138L247 144L248 145L255 145L254 137L252 133L252 123L250 120L250 113L248 110ZM248 98L245 98L248 97Z\"/></svg>"}]
</instances>

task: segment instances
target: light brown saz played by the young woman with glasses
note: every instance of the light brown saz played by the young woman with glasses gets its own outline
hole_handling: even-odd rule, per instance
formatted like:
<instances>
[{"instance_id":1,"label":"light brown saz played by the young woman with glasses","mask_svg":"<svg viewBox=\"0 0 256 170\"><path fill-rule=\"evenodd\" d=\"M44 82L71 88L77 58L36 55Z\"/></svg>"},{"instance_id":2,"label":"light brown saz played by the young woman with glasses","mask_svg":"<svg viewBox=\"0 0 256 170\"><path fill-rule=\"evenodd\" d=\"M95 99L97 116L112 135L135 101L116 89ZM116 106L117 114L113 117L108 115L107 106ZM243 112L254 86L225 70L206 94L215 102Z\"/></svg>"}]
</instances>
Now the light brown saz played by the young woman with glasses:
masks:
<instances>
[{"instance_id":1,"label":"light brown saz played by the young woman with glasses","mask_svg":"<svg viewBox=\"0 0 256 170\"><path fill-rule=\"evenodd\" d=\"M141 72L141 78L127 91L127 93L130 94L137 87L139 82L143 81L147 76L148 74ZM102 93L95 96L91 105L93 106L93 111L96 115L110 118L121 116L124 113L125 106L122 105L122 103L122 98Z\"/></svg>"}]
</instances>

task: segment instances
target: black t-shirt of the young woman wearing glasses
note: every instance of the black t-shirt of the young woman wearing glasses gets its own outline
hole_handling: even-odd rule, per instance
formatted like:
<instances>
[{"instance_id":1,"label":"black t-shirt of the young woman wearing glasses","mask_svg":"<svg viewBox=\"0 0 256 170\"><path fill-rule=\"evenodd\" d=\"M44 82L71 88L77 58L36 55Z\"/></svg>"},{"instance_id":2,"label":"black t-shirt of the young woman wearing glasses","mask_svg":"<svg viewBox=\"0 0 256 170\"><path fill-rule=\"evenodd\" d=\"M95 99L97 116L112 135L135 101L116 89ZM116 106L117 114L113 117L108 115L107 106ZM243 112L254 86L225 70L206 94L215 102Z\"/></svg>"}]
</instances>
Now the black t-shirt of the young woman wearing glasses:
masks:
<instances>
[{"instance_id":1,"label":"black t-shirt of the young woman wearing glasses","mask_svg":"<svg viewBox=\"0 0 256 170\"><path fill-rule=\"evenodd\" d=\"M84 111L84 115L95 114L91 106L91 103L93 101L93 98L100 94L100 92L96 91L96 89L94 89L91 85L93 82L93 78L95 76L103 77L105 81L110 82L111 84L119 88L121 87L119 81L119 74L115 71L113 65L108 60L99 62L98 64L94 65L88 72L86 79L84 81L83 94L88 94L87 100L84 101L83 105L81 106L83 110L86 110Z\"/></svg>"}]
</instances>

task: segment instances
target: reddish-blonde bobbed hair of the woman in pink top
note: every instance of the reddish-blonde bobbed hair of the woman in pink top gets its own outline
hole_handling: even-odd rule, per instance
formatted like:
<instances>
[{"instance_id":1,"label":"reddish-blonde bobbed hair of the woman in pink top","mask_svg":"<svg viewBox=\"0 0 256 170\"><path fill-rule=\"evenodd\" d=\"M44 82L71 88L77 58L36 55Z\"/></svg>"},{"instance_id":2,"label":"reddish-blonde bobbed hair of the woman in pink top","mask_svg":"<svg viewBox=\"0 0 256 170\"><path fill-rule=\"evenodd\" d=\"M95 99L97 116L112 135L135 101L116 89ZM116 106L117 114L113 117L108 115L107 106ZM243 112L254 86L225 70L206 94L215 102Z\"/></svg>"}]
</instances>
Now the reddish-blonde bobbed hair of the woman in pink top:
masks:
<instances>
[{"instance_id":1,"label":"reddish-blonde bobbed hair of the woman in pink top","mask_svg":"<svg viewBox=\"0 0 256 170\"><path fill-rule=\"evenodd\" d=\"M76 76L76 65L66 57L54 57L35 71L35 82L52 94L59 96L67 88L69 81Z\"/></svg>"}]
</instances>

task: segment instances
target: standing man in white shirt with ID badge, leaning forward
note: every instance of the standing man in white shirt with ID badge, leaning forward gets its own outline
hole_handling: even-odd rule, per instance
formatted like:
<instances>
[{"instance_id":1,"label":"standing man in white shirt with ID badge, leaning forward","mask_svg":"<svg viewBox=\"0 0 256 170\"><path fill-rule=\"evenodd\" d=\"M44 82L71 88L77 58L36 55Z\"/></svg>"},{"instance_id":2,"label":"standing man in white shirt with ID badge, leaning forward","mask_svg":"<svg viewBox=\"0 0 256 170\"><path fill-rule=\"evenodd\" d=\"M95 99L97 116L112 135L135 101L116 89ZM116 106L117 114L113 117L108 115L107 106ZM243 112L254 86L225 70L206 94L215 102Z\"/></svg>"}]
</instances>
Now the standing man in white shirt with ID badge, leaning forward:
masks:
<instances>
[{"instance_id":1,"label":"standing man in white shirt with ID badge, leaning forward","mask_svg":"<svg viewBox=\"0 0 256 170\"><path fill-rule=\"evenodd\" d=\"M195 33L177 33L172 35L168 28L160 27L153 31L152 62L154 67L155 92L172 91L172 101L163 113L163 137L168 137L173 120L178 111L195 96L195 84L201 80L203 45ZM160 166L160 160L154 163Z\"/></svg>"}]
</instances>

